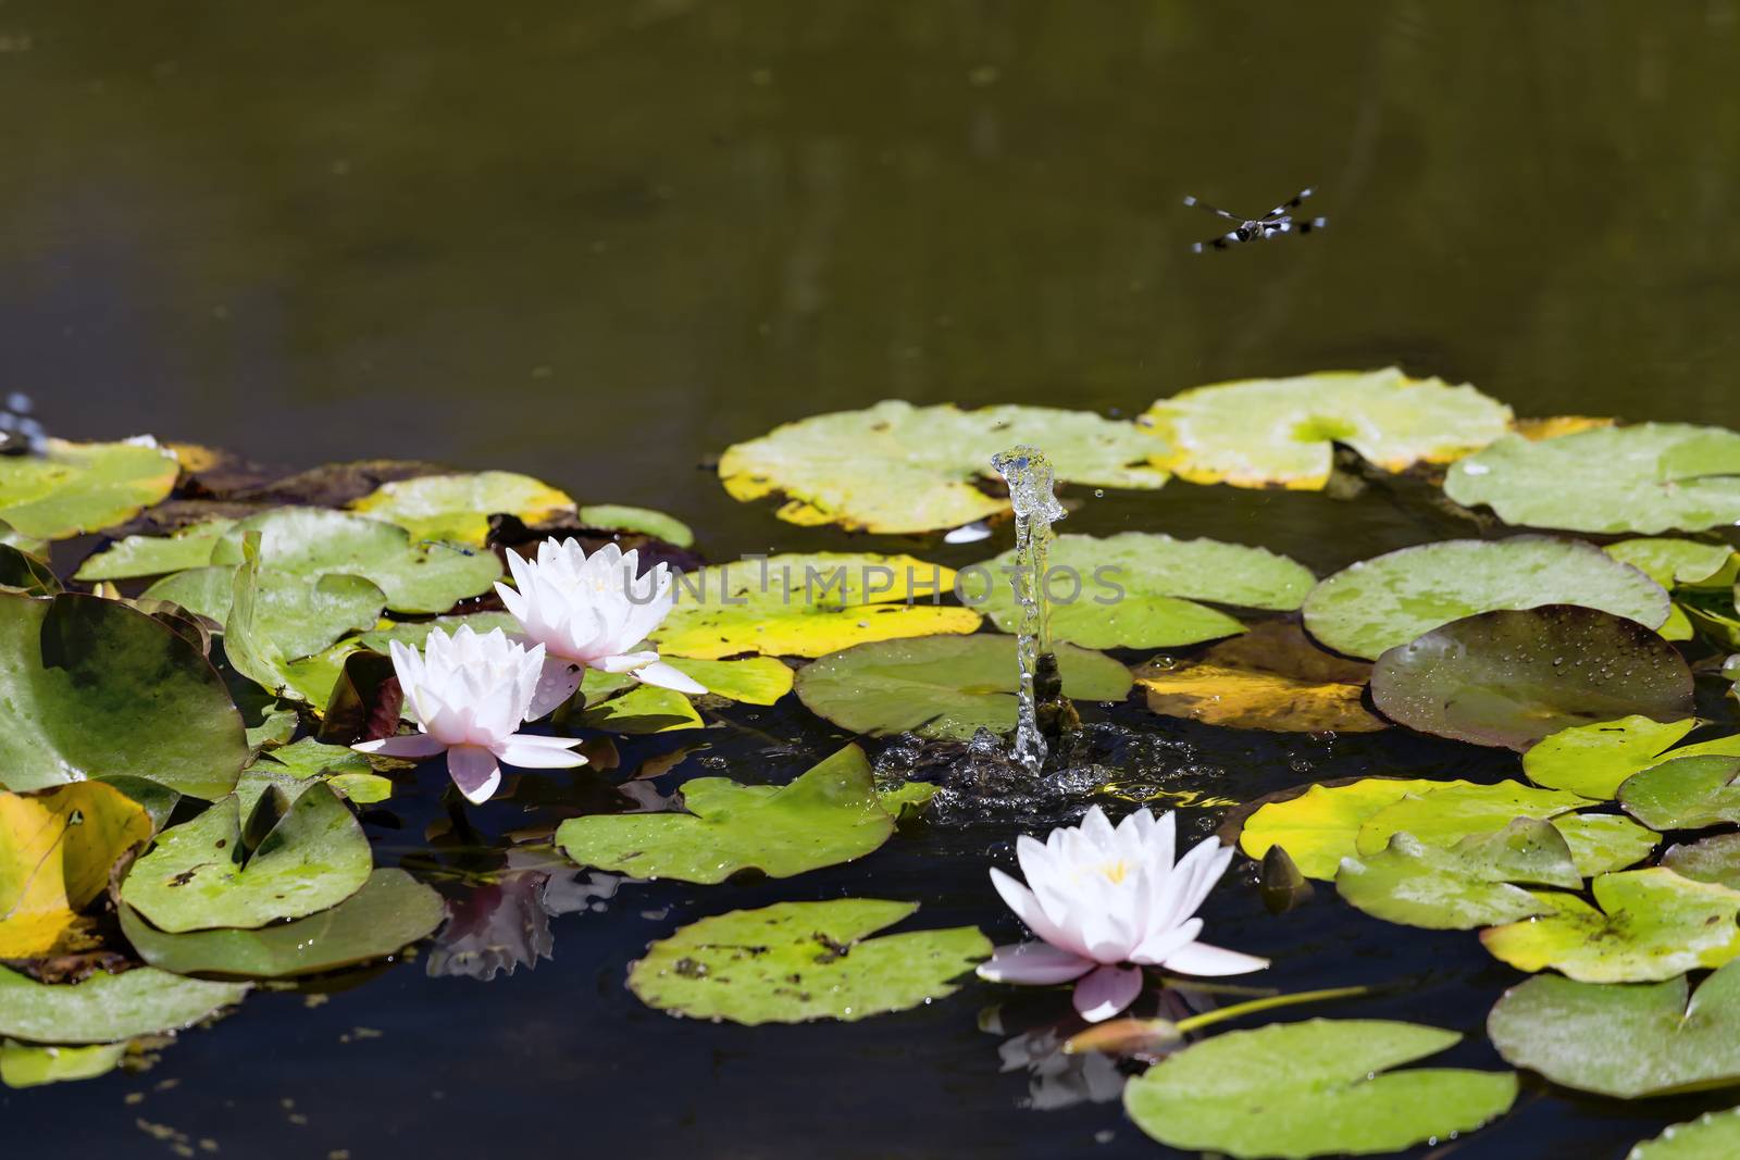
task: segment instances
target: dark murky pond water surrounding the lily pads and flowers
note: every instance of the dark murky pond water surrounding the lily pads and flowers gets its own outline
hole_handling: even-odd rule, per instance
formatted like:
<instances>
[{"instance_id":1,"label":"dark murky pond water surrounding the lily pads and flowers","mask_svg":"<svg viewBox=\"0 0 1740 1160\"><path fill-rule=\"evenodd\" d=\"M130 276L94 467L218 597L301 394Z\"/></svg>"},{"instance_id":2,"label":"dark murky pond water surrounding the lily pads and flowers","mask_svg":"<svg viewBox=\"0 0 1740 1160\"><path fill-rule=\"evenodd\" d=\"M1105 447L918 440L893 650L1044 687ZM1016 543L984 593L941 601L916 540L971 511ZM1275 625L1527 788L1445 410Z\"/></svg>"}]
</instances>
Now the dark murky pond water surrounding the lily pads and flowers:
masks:
<instances>
[{"instance_id":1,"label":"dark murky pond water surrounding the lily pads and flowers","mask_svg":"<svg viewBox=\"0 0 1740 1160\"><path fill-rule=\"evenodd\" d=\"M1724 423L1737 59L1733 0L5 0L0 388L75 438L515 468L668 508L715 558L919 543L948 563L990 553L792 529L698 464L886 397L1129 414L1197 383L1390 362L1524 414ZM1188 252L1215 223L1181 195L1260 212L1305 184L1326 233ZM1068 530L1208 534L1319 572L1465 530L1383 489L1081 499ZM1237 800L1517 769L1399 730L1119 717L1221 770L1178 788ZM785 706L727 718L647 784L785 781L839 743ZM625 772L698 739L625 744L579 793L527 777L472 821L499 843L623 809ZM372 828L383 859L465 870L426 790ZM357 1160L1159 1155L1115 1103L1030 1106L1110 1096L1108 1077L1000 1070L1006 1040L1068 1014L1063 993L973 983L858 1026L745 1030L621 986L649 939L780 899L920 899L922 925L1007 941L985 866L1011 838L933 830L785 883L623 885L550 920L553 960L487 984L430 979L425 953L320 1005L256 995L146 1075L0 1092L0 1151L171 1155L150 1134L167 1125L221 1155ZM1469 1042L1444 1061L1500 1066L1481 1024L1519 976L1472 934L1322 890L1272 918L1235 877L1208 936L1274 957L1263 984L1397 984L1319 1010L1449 1026ZM1536 1080L1502 1123L1420 1155L1616 1158L1721 1103Z\"/></svg>"}]
</instances>

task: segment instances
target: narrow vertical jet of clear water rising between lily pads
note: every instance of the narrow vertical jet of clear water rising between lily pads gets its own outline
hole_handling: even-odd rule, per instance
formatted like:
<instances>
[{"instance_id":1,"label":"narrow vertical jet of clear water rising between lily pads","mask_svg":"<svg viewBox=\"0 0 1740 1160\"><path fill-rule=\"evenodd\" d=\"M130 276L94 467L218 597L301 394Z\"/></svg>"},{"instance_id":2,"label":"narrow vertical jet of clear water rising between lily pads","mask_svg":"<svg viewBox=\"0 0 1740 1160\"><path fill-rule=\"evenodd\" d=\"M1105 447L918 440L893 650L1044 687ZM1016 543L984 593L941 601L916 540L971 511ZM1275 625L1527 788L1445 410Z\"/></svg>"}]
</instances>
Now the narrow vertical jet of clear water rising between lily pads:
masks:
<instances>
[{"instance_id":1,"label":"narrow vertical jet of clear water rising between lily pads","mask_svg":"<svg viewBox=\"0 0 1740 1160\"><path fill-rule=\"evenodd\" d=\"M1051 550L1051 522L1068 515L1051 494L1051 461L1037 447L1021 443L990 457L1009 485L1014 506L1014 600L1021 605L1016 626L1016 663L1020 664L1018 710L1014 725L1014 760L1037 774L1046 763L1046 736L1039 729L1041 706L1061 697L1056 657L1051 652L1051 607L1046 602L1046 557Z\"/></svg>"}]
</instances>

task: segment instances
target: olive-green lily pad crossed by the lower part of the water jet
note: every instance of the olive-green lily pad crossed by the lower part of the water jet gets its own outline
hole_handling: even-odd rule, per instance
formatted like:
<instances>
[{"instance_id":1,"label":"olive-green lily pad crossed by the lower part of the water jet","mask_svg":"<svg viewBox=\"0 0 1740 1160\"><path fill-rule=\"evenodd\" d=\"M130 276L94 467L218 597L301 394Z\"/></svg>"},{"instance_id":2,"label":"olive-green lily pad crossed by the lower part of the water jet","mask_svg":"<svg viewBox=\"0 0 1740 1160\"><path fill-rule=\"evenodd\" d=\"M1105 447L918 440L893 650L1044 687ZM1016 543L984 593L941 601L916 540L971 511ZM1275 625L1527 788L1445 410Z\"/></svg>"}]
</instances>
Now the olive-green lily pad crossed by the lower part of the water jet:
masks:
<instances>
[{"instance_id":1,"label":"olive-green lily pad crossed by the lower part of the water jet","mask_svg":"<svg viewBox=\"0 0 1740 1160\"><path fill-rule=\"evenodd\" d=\"M1063 696L1122 701L1129 670L1100 652L1058 645ZM915 732L969 739L981 727L1014 729L1014 637L882 640L806 664L797 673L804 706L858 734Z\"/></svg>"}]
</instances>

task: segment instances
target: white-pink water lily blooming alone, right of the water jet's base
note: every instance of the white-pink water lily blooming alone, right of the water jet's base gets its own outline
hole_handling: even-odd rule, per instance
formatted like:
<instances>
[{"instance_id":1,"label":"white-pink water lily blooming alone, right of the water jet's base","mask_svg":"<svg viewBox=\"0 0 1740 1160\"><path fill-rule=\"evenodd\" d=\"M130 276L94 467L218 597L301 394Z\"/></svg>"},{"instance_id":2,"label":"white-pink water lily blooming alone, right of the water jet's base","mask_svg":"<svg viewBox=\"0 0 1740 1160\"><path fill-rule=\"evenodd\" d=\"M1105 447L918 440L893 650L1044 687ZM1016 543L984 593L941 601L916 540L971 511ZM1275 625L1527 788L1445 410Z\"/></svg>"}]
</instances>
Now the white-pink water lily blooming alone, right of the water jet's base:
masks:
<instances>
[{"instance_id":1,"label":"white-pink water lily blooming alone, right of the water jet's base","mask_svg":"<svg viewBox=\"0 0 1740 1160\"><path fill-rule=\"evenodd\" d=\"M1232 847L1208 838L1174 866L1174 845L1171 814L1136 810L1114 830L1098 805L1042 843L1023 835L1014 850L1027 885L1000 870L990 880L1041 941L999 946L980 976L1039 986L1075 981L1075 1010L1098 1023L1136 1002L1143 967L1194 976L1267 967L1267 958L1197 943L1195 910L1227 873Z\"/></svg>"}]
</instances>

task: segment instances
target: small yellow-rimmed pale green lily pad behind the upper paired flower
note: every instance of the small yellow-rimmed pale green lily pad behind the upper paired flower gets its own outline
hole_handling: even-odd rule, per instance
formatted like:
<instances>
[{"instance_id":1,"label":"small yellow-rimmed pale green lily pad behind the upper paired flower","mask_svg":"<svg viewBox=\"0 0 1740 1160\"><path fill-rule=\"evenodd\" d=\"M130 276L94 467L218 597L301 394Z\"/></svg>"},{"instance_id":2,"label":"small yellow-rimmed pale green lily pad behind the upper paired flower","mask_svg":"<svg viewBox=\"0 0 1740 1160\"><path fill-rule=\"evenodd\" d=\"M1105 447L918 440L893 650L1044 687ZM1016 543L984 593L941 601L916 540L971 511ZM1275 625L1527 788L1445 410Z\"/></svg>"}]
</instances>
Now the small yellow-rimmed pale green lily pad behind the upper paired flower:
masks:
<instances>
[{"instance_id":1,"label":"small yellow-rimmed pale green lily pad behind the upper paired flower","mask_svg":"<svg viewBox=\"0 0 1740 1160\"><path fill-rule=\"evenodd\" d=\"M546 523L576 513L571 496L513 471L395 480L353 501L350 508L369 518L397 523L411 532L412 539L440 539L478 548L489 539L491 515Z\"/></svg>"}]
</instances>

